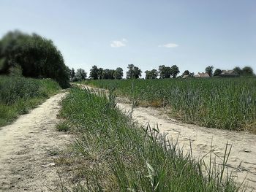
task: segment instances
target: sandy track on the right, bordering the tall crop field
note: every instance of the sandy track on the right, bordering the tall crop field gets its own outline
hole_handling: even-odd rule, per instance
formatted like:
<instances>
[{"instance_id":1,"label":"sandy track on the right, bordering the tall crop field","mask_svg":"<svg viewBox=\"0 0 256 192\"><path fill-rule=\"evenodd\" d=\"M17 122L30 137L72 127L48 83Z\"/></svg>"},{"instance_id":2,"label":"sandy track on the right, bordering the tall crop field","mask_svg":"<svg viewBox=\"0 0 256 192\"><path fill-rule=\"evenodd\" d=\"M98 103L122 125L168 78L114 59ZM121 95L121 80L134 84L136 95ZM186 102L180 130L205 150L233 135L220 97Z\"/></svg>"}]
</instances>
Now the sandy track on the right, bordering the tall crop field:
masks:
<instances>
[{"instance_id":1,"label":"sandy track on the right, bordering the tall crop field","mask_svg":"<svg viewBox=\"0 0 256 192\"><path fill-rule=\"evenodd\" d=\"M131 111L131 104L126 104L118 99L117 106L124 112ZM216 128L205 128L191 124L181 123L167 118L164 109L152 107L135 107L132 118L138 123L151 127L158 124L159 131L166 133L169 139L182 147L184 152L190 151L189 140L192 142L194 157L200 158L211 150L211 139L214 153L223 156L227 141L232 144L228 169L236 172L238 181L246 177L249 188L256 188L256 135L238 131L225 131ZM206 157L207 161L207 157ZM217 159L220 163L220 161ZM236 178L235 178L236 179Z\"/></svg>"}]
</instances>

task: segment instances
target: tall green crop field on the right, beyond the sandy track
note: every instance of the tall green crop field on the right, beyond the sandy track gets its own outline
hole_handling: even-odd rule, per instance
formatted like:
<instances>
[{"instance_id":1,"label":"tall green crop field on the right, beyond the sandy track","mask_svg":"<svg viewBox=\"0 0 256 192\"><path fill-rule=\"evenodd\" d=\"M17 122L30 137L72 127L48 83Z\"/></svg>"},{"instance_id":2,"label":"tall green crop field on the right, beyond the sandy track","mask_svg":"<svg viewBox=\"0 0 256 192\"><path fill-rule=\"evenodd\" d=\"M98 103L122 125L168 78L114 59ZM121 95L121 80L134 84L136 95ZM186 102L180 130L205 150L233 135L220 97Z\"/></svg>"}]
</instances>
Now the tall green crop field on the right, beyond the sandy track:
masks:
<instances>
[{"instance_id":1,"label":"tall green crop field on the right, beyond the sandy track","mask_svg":"<svg viewBox=\"0 0 256 192\"><path fill-rule=\"evenodd\" d=\"M229 130L255 131L256 78L94 80L83 82L115 89L140 106L167 107L187 123Z\"/></svg>"}]
</instances>

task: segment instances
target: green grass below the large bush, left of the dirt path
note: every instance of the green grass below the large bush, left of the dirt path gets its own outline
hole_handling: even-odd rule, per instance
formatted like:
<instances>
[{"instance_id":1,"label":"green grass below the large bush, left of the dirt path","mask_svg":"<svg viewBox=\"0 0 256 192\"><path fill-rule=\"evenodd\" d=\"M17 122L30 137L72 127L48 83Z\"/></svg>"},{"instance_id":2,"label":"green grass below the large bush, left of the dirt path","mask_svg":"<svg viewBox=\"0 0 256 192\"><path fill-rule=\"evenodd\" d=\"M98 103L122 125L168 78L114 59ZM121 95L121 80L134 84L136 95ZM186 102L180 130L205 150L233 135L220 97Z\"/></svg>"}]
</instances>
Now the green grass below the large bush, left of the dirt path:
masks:
<instances>
[{"instance_id":1,"label":"green grass below the large bush, left of the dirt path","mask_svg":"<svg viewBox=\"0 0 256 192\"><path fill-rule=\"evenodd\" d=\"M0 76L0 126L29 112L61 88L50 79Z\"/></svg>"}]
</instances>

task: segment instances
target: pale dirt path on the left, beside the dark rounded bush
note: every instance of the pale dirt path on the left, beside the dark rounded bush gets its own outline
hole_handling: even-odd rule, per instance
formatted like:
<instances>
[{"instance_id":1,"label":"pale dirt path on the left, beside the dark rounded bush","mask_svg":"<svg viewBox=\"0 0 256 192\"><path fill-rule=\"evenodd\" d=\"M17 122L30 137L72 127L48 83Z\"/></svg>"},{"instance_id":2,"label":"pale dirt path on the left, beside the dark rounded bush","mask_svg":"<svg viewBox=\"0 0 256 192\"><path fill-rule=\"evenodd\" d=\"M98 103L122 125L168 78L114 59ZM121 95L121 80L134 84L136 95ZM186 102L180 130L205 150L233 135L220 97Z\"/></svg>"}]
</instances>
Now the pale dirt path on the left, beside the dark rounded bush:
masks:
<instances>
[{"instance_id":1,"label":"pale dirt path on the left, beside the dark rounded bush","mask_svg":"<svg viewBox=\"0 0 256 192\"><path fill-rule=\"evenodd\" d=\"M64 95L52 96L0 128L0 191L56 191L59 176L50 163L70 137L55 128Z\"/></svg>"}]
</instances>

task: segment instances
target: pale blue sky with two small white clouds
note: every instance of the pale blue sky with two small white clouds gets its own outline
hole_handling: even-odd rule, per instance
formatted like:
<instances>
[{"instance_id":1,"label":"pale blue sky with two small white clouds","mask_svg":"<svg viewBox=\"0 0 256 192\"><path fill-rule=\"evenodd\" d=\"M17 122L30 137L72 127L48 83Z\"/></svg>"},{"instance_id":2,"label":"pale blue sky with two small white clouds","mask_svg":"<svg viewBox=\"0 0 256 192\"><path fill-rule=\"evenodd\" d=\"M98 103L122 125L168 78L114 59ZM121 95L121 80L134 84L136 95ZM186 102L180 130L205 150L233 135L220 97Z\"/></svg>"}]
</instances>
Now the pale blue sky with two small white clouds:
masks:
<instances>
[{"instance_id":1,"label":"pale blue sky with two small white clouds","mask_svg":"<svg viewBox=\"0 0 256 192\"><path fill-rule=\"evenodd\" d=\"M181 72L252 66L255 0L1 0L0 36L19 29L52 39L69 68Z\"/></svg>"}]
</instances>

